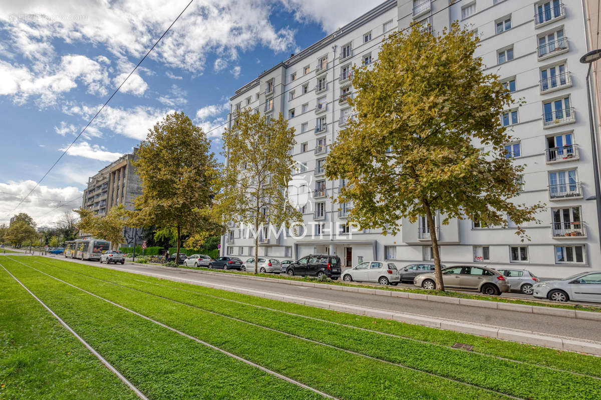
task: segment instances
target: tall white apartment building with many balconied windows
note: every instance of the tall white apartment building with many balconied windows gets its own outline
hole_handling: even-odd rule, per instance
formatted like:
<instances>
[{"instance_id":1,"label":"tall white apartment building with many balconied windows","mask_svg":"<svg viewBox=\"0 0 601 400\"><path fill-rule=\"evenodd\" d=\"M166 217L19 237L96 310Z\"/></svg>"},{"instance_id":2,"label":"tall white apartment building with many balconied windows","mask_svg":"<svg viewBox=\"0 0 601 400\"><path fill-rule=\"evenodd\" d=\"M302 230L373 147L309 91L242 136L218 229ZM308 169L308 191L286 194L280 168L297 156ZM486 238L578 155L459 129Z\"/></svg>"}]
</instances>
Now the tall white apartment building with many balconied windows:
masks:
<instances>
[{"instance_id":1,"label":"tall white apartment building with many balconied windows","mask_svg":"<svg viewBox=\"0 0 601 400\"><path fill-rule=\"evenodd\" d=\"M431 229L436 229L445 264L486 264L525 268L542 277L562 277L599 268L599 182L593 157L585 77L588 65L579 58L590 47L580 2L560 0L386 1L289 59L264 71L230 99L231 126L238 109L250 107L276 118L279 113L296 129L293 182L305 229L291 236L261 232L259 255L300 258L310 253L335 253L343 264L370 259L399 267L432 260ZM350 67L377 59L380 41L395 30L419 22L434 34L459 20L480 35L477 56L486 70L498 74L522 106L499 116L513 130L507 157L525 165L524 190L518 203L542 201L540 224L525 227L524 242L512 229L484 226L468 219L427 225L425 218L402 220L397 235L374 229L350 231L351 204L336 198L344 181L324 177L323 161L338 132L354 111L347 99L355 95ZM222 238L222 253L254 254L252 238L234 223Z\"/></svg>"}]
</instances>

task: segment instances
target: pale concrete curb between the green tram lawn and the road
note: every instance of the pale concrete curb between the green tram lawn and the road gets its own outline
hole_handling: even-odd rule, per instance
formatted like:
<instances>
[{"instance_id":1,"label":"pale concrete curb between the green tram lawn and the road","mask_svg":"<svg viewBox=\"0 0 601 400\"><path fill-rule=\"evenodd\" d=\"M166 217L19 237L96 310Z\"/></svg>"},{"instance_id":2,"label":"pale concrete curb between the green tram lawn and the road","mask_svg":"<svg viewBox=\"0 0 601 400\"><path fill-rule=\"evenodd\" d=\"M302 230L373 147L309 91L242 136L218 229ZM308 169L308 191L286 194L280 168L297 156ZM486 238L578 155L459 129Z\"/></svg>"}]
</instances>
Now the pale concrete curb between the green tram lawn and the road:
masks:
<instances>
[{"instance_id":1,"label":"pale concrete curb between the green tram lawn and the road","mask_svg":"<svg viewBox=\"0 0 601 400\"><path fill-rule=\"evenodd\" d=\"M112 269L110 267L106 267ZM165 269L173 269L171 267L163 267ZM475 336L484 336L486 338L501 339L511 342L519 342L529 345L537 345L541 347L555 348L565 351L576 351L578 353L587 353L594 356L601 356L601 342L584 341L576 338L564 338L560 336L544 335L538 332L528 332L520 330L506 329L496 326L486 326L482 324L466 323L464 321L445 320L442 318L423 317L420 315L409 314L405 312L394 312L383 309L375 309L363 306L355 306L346 303L331 302L327 300L319 300L316 298L299 297L296 295L288 295L282 293L274 293L263 291L260 289L246 289L237 286L223 285L221 283L203 282L202 280L187 279L177 276L165 276L150 271L132 271L133 273L142 274L145 276L160 277L176 282L190 283L191 285L205 286L213 289L221 289L229 292L248 294L255 297L270 298L288 303L329 309L333 311L346 312L356 315L367 315L368 317L383 318L386 320L394 320L403 323L434 327L438 329L452 330L454 332L468 333ZM203 271L204 272L204 271ZM307 282L304 282L307 283ZM406 293L404 293L406 294Z\"/></svg>"}]
</instances>

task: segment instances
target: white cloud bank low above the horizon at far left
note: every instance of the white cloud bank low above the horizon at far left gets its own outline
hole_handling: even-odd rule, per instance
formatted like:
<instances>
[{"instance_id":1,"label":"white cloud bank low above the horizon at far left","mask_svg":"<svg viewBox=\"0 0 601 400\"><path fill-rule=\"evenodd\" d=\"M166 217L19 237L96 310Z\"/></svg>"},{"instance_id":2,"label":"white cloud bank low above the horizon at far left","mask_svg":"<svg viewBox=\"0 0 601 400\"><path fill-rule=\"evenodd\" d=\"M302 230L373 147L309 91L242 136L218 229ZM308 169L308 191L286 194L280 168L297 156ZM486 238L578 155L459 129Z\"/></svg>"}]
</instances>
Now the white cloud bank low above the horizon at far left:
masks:
<instances>
[{"instance_id":1,"label":"white cloud bank low above the horizon at far left","mask_svg":"<svg viewBox=\"0 0 601 400\"><path fill-rule=\"evenodd\" d=\"M38 186L17 210L20 196L25 197L35 187L35 181L0 183L0 223L8 223L17 213L28 213L38 226L53 225L64 211L81 207L83 192L77 187ZM5 194L10 193L10 194Z\"/></svg>"}]
</instances>

